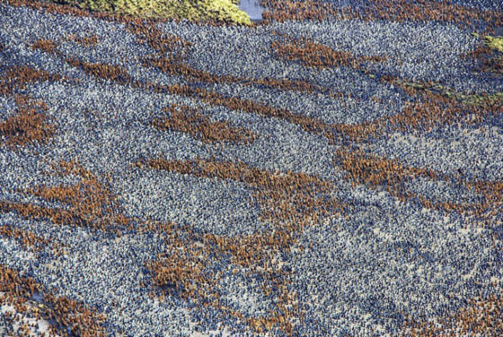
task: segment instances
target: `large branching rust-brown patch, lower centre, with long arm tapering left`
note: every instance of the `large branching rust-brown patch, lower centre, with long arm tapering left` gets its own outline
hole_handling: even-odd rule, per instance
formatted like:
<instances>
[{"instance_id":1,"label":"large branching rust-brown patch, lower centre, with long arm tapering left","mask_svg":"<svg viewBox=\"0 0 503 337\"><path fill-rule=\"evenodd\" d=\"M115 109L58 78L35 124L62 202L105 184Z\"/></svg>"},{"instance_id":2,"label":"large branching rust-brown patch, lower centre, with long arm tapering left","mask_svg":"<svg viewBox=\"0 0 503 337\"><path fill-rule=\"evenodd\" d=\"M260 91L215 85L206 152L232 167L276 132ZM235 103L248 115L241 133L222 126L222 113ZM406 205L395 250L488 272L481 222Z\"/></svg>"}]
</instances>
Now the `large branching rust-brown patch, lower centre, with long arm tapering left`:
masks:
<instances>
[{"instance_id":1,"label":"large branching rust-brown patch, lower centre, with long arm tapering left","mask_svg":"<svg viewBox=\"0 0 503 337\"><path fill-rule=\"evenodd\" d=\"M177 274L183 274L190 280L199 280L199 291L205 289L209 277L203 277L203 265L211 265L211 261L193 261L200 256L214 256L223 258L228 256L235 266L235 271L244 271L251 274L259 273L263 282L261 290L266 296L276 296L281 300L277 303L277 310L264 317L249 317L245 320L252 329L258 333L279 329L291 335L294 328L294 318L301 319L302 311L295 303L295 294L289 289L288 284L291 274L284 270L278 261L281 252L288 252L291 246L306 226L316 223L320 218L334 210L346 212L348 205L332 200L329 196L333 191L330 181L322 181L318 177L303 173L269 172L260 168L252 168L243 162L209 160L163 160L151 159L137 162L139 168L163 169L180 174L190 174L195 177L217 177L219 179L233 179L249 186L257 187L253 198L260 204L260 220L269 222L274 226L274 232L255 233L252 235L227 238L211 233L195 233L186 230L188 242L172 242L173 249L191 253L182 255L185 259L176 264L173 270L170 256L161 256L157 264L152 264L154 275L158 276L158 285L177 282ZM324 196L323 196L324 195ZM198 246L194 246L194 242ZM170 253L172 254L172 253ZM192 255L192 256L191 256ZM193 256L195 255L195 256ZM199 257L198 257L199 256ZM175 256L176 257L176 256ZM188 263L193 261L191 263ZM184 266L185 265L185 266ZM200 265L196 270L191 268ZM195 274L194 274L195 273ZM212 275L216 277L216 275ZM202 279L201 279L202 278ZM169 281L171 280L171 281ZM180 283L180 281L178 281ZM176 284L179 284L176 283ZM185 286L184 286L185 287ZM276 290L274 290L276 289ZM196 291L194 289L194 291ZM211 298L214 292L202 295L202 298ZM190 293L192 296L195 293ZM219 300L214 300L211 305L219 308L223 314L232 315L243 319L243 315L222 306ZM272 329L272 330L271 330Z\"/></svg>"}]
</instances>

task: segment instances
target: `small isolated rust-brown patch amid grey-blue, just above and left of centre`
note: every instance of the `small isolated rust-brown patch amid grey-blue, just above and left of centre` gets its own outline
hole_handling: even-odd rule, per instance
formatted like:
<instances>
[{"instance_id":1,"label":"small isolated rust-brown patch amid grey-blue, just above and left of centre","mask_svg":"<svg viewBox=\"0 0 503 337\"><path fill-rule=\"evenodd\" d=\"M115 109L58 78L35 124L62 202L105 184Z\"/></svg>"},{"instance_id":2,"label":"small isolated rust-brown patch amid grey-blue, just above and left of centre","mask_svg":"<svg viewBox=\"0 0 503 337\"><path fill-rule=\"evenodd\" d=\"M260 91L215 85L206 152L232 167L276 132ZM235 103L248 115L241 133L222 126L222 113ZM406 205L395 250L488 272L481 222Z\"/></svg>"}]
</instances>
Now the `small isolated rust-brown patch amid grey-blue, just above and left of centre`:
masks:
<instances>
[{"instance_id":1,"label":"small isolated rust-brown patch amid grey-blue, just above and left of centre","mask_svg":"<svg viewBox=\"0 0 503 337\"><path fill-rule=\"evenodd\" d=\"M172 105L164 108L169 117L155 119L154 126L161 130L176 130L201 138L205 143L240 142L253 143L257 134L244 127L232 127L226 122L212 122L199 112L200 108Z\"/></svg>"}]
</instances>

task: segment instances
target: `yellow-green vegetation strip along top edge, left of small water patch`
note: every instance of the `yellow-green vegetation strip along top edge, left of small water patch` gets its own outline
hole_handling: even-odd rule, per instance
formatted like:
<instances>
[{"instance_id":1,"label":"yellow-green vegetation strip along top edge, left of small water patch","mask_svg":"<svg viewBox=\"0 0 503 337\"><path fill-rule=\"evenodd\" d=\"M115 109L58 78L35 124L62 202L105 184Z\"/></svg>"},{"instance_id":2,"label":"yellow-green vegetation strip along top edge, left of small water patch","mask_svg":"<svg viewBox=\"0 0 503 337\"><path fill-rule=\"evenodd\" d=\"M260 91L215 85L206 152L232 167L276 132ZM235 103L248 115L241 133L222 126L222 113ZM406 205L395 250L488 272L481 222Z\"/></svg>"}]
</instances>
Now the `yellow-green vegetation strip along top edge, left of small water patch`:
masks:
<instances>
[{"instance_id":1,"label":"yellow-green vegetation strip along top edge, left of small water patch","mask_svg":"<svg viewBox=\"0 0 503 337\"><path fill-rule=\"evenodd\" d=\"M187 19L251 25L250 17L239 9L239 0L49 0L74 4L82 9L129 14L149 18Z\"/></svg>"}]
</instances>

